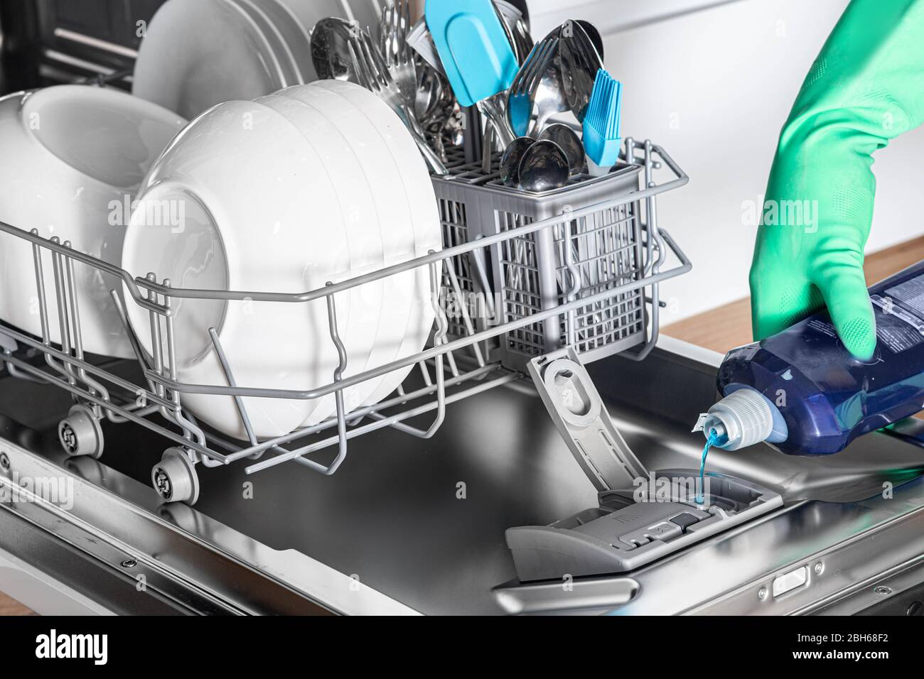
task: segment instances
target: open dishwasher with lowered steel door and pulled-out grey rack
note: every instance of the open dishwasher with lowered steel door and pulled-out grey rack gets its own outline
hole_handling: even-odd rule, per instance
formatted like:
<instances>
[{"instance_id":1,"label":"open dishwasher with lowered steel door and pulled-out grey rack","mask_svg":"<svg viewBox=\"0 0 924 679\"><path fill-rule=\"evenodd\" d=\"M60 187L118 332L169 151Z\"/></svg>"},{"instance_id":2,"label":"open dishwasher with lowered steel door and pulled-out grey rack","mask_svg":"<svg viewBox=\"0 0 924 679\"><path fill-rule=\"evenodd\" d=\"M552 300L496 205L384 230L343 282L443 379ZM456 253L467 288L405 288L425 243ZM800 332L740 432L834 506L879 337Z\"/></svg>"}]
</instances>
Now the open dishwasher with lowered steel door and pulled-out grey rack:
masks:
<instances>
[{"instance_id":1,"label":"open dishwasher with lowered steel door and pulled-out grey rack","mask_svg":"<svg viewBox=\"0 0 924 679\"><path fill-rule=\"evenodd\" d=\"M634 494L697 474L688 428L721 361L658 329L658 285L691 266L657 222L687 184L670 155L627 138L613 173L549 195L491 169L456 150L433 177L444 249L291 295L133 278L0 224L30 245L43 329L0 326L0 589L39 612L917 612L917 420L832 457L716 450L705 504ZM148 311L151 354L128 322L134 360L83 351L82 266L121 282L123 317ZM334 295L418 267L429 345L345 377ZM322 300L332 381L237 384L214 332L225 383L177 381L170 309L189 297ZM385 401L347 410L344 389L408 366ZM249 440L197 422L190 393L234 399ZM268 441L249 426L245 399L328 394L318 425Z\"/></svg>"}]
</instances>

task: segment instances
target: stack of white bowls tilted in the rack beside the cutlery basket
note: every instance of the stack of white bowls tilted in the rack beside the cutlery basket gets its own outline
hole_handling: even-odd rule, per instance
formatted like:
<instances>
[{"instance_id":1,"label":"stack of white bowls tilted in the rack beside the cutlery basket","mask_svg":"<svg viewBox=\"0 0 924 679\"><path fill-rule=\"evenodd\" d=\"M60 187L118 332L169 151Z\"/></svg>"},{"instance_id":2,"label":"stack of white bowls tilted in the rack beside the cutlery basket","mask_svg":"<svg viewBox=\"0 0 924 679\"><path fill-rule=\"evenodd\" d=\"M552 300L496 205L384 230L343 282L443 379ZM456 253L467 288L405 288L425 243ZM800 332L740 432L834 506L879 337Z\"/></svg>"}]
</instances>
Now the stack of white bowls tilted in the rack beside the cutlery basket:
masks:
<instances>
[{"instance_id":1,"label":"stack of white bowls tilted in the rack beside the cutlery basket","mask_svg":"<svg viewBox=\"0 0 924 679\"><path fill-rule=\"evenodd\" d=\"M184 207L176 233L152 224L151 206ZM440 249L432 184L392 110L357 85L325 80L215 106L191 123L152 168L128 228L123 266L174 286L298 293ZM427 267L335 297L346 376L418 352L432 328ZM148 351L147 314L130 320ZM309 390L333 382L339 363L323 299L305 303L176 304L181 382L225 384L208 329L215 328L239 386ZM410 368L361 382L346 407L381 401ZM189 410L238 439L233 399L184 394ZM334 415L333 395L245 398L258 438Z\"/></svg>"}]
</instances>

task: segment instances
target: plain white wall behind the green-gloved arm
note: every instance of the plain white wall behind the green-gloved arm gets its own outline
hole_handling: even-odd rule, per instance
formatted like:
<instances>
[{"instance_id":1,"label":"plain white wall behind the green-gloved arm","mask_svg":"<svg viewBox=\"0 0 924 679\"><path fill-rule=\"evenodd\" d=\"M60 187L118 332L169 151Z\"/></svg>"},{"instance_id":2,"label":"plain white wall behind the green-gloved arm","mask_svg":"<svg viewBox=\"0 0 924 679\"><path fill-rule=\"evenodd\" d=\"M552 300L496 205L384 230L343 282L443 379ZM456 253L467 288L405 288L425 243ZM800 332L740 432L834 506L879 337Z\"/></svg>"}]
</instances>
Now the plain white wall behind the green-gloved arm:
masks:
<instances>
[{"instance_id":1,"label":"plain white wall behind the green-gloved arm","mask_svg":"<svg viewBox=\"0 0 924 679\"><path fill-rule=\"evenodd\" d=\"M605 37L606 65L625 85L623 135L661 144L690 176L659 202L694 264L663 285L665 323L748 295L756 227L742 223L742 202L763 193L780 127L846 4L742 0ZM924 233L922 158L920 129L879 152L868 251Z\"/></svg>"}]
</instances>

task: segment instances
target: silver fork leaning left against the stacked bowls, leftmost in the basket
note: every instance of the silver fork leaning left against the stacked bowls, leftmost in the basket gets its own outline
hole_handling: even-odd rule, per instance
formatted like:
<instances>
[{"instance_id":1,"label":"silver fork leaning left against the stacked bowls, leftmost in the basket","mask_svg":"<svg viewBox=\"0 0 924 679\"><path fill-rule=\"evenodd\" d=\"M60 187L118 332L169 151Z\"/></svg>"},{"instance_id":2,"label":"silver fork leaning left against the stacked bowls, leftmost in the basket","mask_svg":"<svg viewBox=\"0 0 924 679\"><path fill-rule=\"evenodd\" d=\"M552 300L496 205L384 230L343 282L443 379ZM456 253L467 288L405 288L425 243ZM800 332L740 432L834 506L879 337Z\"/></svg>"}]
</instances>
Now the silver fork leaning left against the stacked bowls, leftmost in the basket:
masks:
<instances>
[{"instance_id":1,"label":"silver fork leaning left against the stacked bowls, leftmost in the basket","mask_svg":"<svg viewBox=\"0 0 924 679\"><path fill-rule=\"evenodd\" d=\"M430 148L420 129L417 118L404 99L391 71L385 66L384 57L372 43L369 33L359 31L359 35L347 43L350 56L356 65L359 84L379 96L401 118L411 137L417 144L420 154L434 175L448 175L449 171L440 157Z\"/></svg>"}]
</instances>

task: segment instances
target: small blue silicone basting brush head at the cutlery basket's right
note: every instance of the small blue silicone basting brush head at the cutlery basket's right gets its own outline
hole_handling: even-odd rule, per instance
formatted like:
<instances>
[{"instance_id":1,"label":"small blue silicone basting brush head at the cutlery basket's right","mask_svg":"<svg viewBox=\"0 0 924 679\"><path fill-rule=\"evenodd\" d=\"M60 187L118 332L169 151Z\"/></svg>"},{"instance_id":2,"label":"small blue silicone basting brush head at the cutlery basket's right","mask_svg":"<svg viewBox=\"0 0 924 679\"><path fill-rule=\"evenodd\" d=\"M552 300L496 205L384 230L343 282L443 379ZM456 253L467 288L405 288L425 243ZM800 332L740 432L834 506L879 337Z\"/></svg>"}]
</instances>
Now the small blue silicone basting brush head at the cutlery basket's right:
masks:
<instances>
[{"instance_id":1,"label":"small blue silicone basting brush head at the cutlery basket's right","mask_svg":"<svg viewBox=\"0 0 924 679\"><path fill-rule=\"evenodd\" d=\"M597 71L587 115L584 117L584 152L588 172L605 175L619 159L619 116L623 85L604 69Z\"/></svg>"}]
</instances>

